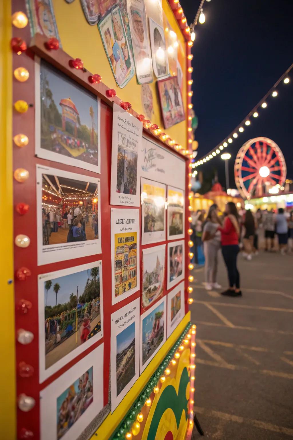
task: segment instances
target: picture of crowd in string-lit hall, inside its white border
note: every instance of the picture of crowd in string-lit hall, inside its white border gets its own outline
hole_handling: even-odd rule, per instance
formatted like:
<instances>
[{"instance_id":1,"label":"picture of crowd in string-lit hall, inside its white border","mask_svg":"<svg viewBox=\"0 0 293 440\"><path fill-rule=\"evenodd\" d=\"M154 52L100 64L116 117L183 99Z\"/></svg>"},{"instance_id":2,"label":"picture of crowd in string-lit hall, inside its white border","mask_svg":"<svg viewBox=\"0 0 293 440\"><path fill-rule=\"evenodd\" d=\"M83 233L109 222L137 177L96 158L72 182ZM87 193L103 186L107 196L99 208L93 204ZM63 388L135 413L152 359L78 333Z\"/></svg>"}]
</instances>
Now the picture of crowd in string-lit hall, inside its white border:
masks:
<instances>
[{"instance_id":1,"label":"picture of crowd in string-lit hall, inside its white border","mask_svg":"<svg viewBox=\"0 0 293 440\"><path fill-rule=\"evenodd\" d=\"M98 239L97 184L42 174L42 225L44 246Z\"/></svg>"}]
</instances>

